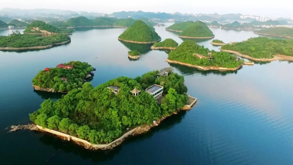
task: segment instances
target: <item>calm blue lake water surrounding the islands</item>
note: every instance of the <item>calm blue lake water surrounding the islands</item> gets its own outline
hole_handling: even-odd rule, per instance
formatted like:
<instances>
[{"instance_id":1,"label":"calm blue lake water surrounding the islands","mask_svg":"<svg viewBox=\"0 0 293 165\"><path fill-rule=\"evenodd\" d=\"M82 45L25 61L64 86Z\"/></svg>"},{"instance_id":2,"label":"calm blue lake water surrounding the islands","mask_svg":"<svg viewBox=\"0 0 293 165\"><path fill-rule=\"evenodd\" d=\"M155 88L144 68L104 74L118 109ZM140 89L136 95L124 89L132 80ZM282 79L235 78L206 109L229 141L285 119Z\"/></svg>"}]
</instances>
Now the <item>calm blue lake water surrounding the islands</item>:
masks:
<instances>
[{"instance_id":1,"label":"calm blue lake water surrounding the islands","mask_svg":"<svg viewBox=\"0 0 293 165\"><path fill-rule=\"evenodd\" d=\"M171 24L167 23L167 26ZM155 27L164 40L183 40ZM131 137L110 151L90 151L50 134L5 128L30 122L28 113L59 94L35 92L31 80L46 67L70 60L95 66L93 86L119 76L136 77L170 66L165 51L122 43L125 29L80 28L71 43L46 50L0 51L0 164L293 164L293 64L256 63L235 72L200 71L171 65L185 76L188 93L198 97L192 110L168 117L146 134ZM225 43L258 35L211 29ZM19 31L23 31L19 30ZM0 31L8 35L11 30ZM199 45L218 51L209 40ZM138 50L138 60L127 51Z\"/></svg>"}]
</instances>

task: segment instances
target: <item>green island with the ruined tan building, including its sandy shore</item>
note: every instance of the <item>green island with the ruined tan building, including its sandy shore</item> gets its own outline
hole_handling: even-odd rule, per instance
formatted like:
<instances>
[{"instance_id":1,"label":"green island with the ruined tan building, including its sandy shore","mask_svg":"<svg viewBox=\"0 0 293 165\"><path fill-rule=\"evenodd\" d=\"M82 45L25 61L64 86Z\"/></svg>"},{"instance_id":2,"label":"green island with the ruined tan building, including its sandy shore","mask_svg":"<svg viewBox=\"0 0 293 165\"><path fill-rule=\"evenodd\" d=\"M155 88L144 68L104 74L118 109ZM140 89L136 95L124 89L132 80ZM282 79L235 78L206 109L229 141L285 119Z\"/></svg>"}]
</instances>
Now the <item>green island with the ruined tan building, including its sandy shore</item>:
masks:
<instances>
[{"instance_id":1,"label":"green island with the ruined tan building, including its sandy shore","mask_svg":"<svg viewBox=\"0 0 293 165\"><path fill-rule=\"evenodd\" d=\"M243 60L226 52L210 51L196 42L186 40L168 54L168 63L177 63L202 70L237 70Z\"/></svg>"}]
</instances>

